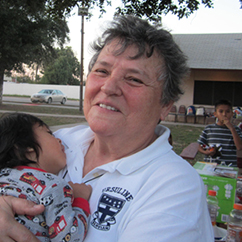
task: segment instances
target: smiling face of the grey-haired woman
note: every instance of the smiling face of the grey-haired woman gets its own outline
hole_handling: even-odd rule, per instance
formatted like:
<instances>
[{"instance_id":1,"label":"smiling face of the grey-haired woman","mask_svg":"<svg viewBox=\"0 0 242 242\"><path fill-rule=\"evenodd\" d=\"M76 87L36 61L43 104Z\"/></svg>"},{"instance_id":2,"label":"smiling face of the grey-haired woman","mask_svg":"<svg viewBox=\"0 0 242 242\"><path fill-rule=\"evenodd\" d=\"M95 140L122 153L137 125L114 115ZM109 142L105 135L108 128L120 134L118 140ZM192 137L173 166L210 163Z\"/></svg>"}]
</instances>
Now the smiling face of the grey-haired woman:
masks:
<instances>
[{"instance_id":1,"label":"smiling face of the grey-haired woman","mask_svg":"<svg viewBox=\"0 0 242 242\"><path fill-rule=\"evenodd\" d=\"M137 53L129 46L115 56L119 48L113 40L101 51L87 78L84 113L91 129L98 135L153 135L158 120L164 119L169 107L161 105L161 59L130 59Z\"/></svg>"}]
</instances>

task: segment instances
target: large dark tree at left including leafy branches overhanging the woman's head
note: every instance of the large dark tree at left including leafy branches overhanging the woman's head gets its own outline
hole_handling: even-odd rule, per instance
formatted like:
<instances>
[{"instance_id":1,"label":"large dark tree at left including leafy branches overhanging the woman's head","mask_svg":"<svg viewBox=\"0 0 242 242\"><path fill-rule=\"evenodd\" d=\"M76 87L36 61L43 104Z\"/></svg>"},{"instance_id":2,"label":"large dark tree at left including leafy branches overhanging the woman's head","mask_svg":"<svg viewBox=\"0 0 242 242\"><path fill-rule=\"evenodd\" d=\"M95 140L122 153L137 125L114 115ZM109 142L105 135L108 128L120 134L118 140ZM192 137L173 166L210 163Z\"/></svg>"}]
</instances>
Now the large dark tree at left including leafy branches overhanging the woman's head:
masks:
<instances>
[{"instance_id":1,"label":"large dark tree at left including leafy branches overhanging the woman's head","mask_svg":"<svg viewBox=\"0 0 242 242\"><path fill-rule=\"evenodd\" d=\"M161 15L173 13L178 18L188 17L199 6L211 8L213 0L120 0L122 8L117 14L135 14L151 21ZM242 6L242 0L239 0ZM0 105L4 71L21 69L21 64L37 63L37 67L50 58L53 46L67 39L66 18L76 6L100 9L103 15L111 0L1 0L0 1ZM89 11L91 17L91 11Z\"/></svg>"}]
</instances>

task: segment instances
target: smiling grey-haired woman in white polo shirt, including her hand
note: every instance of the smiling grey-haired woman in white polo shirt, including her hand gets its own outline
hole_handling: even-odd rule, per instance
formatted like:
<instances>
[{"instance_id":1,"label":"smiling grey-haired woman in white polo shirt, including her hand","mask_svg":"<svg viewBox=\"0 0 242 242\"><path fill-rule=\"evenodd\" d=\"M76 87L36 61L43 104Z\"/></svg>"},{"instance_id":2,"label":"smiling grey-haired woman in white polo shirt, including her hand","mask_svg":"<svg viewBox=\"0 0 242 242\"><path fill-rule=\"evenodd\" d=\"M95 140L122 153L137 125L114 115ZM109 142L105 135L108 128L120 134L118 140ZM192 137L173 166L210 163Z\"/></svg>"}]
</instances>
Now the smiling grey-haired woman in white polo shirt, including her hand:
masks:
<instances>
[{"instance_id":1,"label":"smiling grey-haired woman in white polo shirt, including her hand","mask_svg":"<svg viewBox=\"0 0 242 242\"><path fill-rule=\"evenodd\" d=\"M167 31L131 16L115 19L93 47L84 98L90 127L56 132L68 159L59 175L93 188L85 242L213 241L203 182L157 126L182 94L183 53ZM41 208L2 200L0 241L35 241L8 214Z\"/></svg>"}]
</instances>

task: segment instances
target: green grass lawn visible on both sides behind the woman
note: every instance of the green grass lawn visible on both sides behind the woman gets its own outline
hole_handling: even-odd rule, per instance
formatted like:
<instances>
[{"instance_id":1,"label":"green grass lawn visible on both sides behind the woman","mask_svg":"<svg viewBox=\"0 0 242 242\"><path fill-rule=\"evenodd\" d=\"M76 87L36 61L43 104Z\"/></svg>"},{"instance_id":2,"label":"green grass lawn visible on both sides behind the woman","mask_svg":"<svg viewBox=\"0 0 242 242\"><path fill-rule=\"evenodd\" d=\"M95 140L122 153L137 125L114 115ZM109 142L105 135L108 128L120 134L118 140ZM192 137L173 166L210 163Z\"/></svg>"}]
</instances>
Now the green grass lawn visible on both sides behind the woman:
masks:
<instances>
[{"instance_id":1,"label":"green grass lawn visible on both sides behind the woman","mask_svg":"<svg viewBox=\"0 0 242 242\"><path fill-rule=\"evenodd\" d=\"M78 109L67 109L58 107L41 107L41 106L29 106L29 105L10 105L4 104L0 106L0 110L17 111L17 112L31 112L31 113L48 113L48 114L63 114L63 115L80 115ZM0 117L3 113L0 113ZM44 122L49 126L64 125L64 124L77 124L85 122L84 118L76 117L51 117L41 116L37 114ZM203 127L184 126L184 125L165 125L171 130L173 138L173 149L177 154L180 154L182 150L192 142L196 142ZM203 155L198 153L195 160L190 163L193 164L195 161L203 160Z\"/></svg>"}]
</instances>

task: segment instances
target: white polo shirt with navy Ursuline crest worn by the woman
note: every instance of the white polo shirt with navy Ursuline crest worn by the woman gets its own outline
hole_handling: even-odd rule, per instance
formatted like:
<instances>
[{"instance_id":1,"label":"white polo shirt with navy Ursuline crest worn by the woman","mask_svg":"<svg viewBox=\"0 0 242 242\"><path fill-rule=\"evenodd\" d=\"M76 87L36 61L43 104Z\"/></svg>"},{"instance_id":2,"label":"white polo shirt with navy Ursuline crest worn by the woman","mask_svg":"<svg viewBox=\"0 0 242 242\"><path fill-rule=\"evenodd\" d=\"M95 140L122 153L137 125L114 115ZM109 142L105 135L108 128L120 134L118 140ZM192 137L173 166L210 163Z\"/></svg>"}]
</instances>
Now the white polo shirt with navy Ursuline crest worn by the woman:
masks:
<instances>
[{"instance_id":1,"label":"white polo shirt with navy Ursuline crest worn by the woman","mask_svg":"<svg viewBox=\"0 0 242 242\"><path fill-rule=\"evenodd\" d=\"M168 143L170 131L128 157L95 168L82 177L93 132L87 126L55 133L66 146L67 169L59 174L93 188L85 242L214 241L204 184L195 169ZM67 172L68 170L68 172Z\"/></svg>"}]
</instances>

